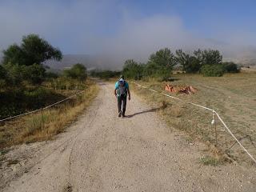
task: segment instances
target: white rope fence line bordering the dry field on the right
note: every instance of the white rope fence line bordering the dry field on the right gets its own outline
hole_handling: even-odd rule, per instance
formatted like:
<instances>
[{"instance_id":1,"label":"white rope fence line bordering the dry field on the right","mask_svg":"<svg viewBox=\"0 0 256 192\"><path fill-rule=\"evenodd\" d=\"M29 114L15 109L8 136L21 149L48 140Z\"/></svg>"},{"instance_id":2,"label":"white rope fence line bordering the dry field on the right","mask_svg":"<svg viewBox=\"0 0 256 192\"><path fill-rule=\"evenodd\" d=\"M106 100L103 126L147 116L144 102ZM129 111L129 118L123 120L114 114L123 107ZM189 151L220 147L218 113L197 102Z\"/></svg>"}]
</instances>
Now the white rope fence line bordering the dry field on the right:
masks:
<instances>
[{"instance_id":1,"label":"white rope fence line bordering the dry field on the right","mask_svg":"<svg viewBox=\"0 0 256 192\"><path fill-rule=\"evenodd\" d=\"M173 99L176 99L176 100L178 100L178 101L184 102L181 98L175 98L174 96L171 96L171 95L169 95L169 94L160 93L160 92L158 92L157 90L152 90L152 89L150 89L150 88L148 88L148 87L146 87L146 86L142 86L142 85L138 84L137 82L132 82L132 83L134 83L135 85L137 85L137 86L139 86L139 87L142 87L142 88L144 88L144 89L150 90L151 92L154 92L154 93L157 93L157 94L162 94L162 95L164 95L164 96L166 96L166 97L168 97L168 98L173 98ZM214 114L216 114L216 116L218 117L219 121L222 122L222 125L225 127L225 129L227 130L227 132L232 136L232 138L234 138L234 140L238 143L238 145L242 148L242 150L245 151L246 154L248 154L248 156L249 156L249 157L252 159L252 161L256 164L256 159L254 158L254 156L253 156L252 154L250 154L249 151L246 150L246 148L245 148L244 146L242 146L242 143L239 142L238 138L236 138L236 137L234 136L234 134L231 132L230 128L229 128L228 126L226 126L226 123L222 120L222 118L220 117L220 115L219 115L215 110L210 109L210 108L208 108L208 107L206 107L206 106L198 105L198 104L196 104L196 103L194 103L194 102L185 102L185 103L190 104L190 105L192 105L192 106L198 106L198 107L200 107L200 108L202 108L202 109L204 109L204 110L210 110L210 111L213 113L213 120L212 120L212 122L211 122L211 124L213 124L213 125L215 124Z\"/></svg>"}]
</instances>

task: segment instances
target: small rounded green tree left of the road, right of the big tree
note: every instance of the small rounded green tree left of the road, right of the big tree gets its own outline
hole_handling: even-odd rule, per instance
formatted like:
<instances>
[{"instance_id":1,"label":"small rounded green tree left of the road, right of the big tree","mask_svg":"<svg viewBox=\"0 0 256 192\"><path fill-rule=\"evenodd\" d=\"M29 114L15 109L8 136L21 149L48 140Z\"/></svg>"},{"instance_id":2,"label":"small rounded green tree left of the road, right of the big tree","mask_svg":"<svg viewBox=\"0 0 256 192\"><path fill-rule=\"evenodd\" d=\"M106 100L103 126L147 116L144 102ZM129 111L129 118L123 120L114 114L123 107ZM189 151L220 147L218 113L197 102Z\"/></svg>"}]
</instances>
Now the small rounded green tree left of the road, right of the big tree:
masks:
<instances>
[{"instance_id":1,"label":"small rounded green tree left of the road, right of the big tree","mask_svg":"<svg viewBox=\"0 0 256 192\"><path fill-rule=\"evenodd\" d=\"M63 74L66 78L74 78L78 79L79 81L85 81L87 78L86 66L77 63L69 70L64 70Z\"/></svg>"}]
</instances>

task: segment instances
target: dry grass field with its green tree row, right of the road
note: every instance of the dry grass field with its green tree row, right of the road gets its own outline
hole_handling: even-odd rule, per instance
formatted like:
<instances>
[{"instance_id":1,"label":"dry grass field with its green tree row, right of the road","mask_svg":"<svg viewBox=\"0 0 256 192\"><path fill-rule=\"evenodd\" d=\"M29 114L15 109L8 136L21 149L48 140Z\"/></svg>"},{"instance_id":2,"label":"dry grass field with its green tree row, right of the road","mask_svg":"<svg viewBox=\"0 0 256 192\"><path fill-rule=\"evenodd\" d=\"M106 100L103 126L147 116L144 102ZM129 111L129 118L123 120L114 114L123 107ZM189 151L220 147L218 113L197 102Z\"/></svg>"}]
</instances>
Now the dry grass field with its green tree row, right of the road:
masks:
<instances>
[{"instance_id":1,"label":"dry grass field with its green tree row, right of the road","mask_svg":"<svg viewBox=\"0 0 256 192\"><path fill-rule=\"evenodd\" d=\"M253 118L256 115L256 76L240 73L240 66L234 62L223 62L218 50L195 50L193 54L176 50L173 54L165 48L150 54L146 63L127 59L122 73L128 79L163 93L166 92L166 84L193 86L198 90L196 94L173 93L184 101L178 102L132 85L138 95L158 109L170 127L182 130L191 140L203 141L209 146L211 156L200 159L203 164L216 166L226 161L250 162L250 159L217 118L215 132L215 126L210 123L213 114L186 102L216 110L242 144L256 155L256 132L253 129L256 126Z\"/></svg>"}]
</instances>

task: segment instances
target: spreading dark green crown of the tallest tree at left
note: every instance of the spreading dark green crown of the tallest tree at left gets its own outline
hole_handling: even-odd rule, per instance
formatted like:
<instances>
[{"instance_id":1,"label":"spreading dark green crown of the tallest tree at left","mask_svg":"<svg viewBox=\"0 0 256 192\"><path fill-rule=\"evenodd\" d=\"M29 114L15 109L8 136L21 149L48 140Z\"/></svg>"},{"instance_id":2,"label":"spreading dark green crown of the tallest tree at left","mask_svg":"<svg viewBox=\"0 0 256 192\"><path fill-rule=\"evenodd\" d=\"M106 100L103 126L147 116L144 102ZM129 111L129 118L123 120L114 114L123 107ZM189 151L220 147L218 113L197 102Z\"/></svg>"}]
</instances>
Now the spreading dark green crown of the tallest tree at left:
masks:
<instances>
[{"instance_id":1,"label":"spreading dark green crown of the tallest tree at left","mask_svg":"<svg viewBox=\"0 0 256 192\"><path fill-rule=\"evenodd\" d=\"M62 59L62 52L54 48L38 34L29 34L22 38L21 46L11 45L3 50L3 64L11 63L24 66L42 64L48 59Z\"/></svg>"}]
</instances>

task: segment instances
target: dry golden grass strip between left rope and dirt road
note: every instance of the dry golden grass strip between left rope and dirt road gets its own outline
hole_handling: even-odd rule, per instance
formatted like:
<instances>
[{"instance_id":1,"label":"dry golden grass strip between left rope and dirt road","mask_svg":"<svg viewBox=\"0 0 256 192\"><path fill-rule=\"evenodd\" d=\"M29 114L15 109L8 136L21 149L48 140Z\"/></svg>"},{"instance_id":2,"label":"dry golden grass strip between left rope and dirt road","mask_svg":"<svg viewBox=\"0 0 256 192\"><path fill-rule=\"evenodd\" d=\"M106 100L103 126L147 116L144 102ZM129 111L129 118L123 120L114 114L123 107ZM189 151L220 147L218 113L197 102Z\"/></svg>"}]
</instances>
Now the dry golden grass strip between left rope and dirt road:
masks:
<instances>
[{"instance_id":1,"label":"dry golden grass strip between left rope and dirt road","mask_svg":"<svg viewBox=\"0 0 256 192\"><path fill-rule=\"evenodd\" d=\"M0 124L0 148L44 141L61 133L98 94L98 86L95 82L87 80L86 87L85 93L54 108Z\"/></svg>"}]
</instances>

